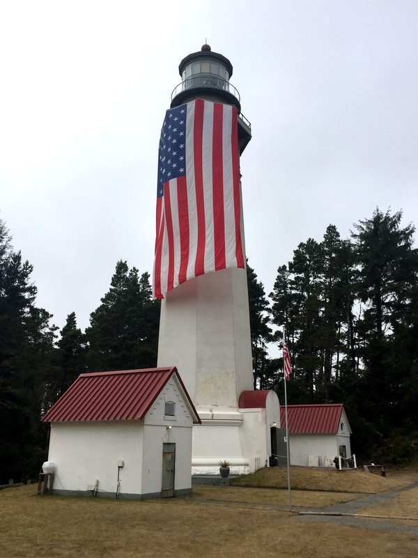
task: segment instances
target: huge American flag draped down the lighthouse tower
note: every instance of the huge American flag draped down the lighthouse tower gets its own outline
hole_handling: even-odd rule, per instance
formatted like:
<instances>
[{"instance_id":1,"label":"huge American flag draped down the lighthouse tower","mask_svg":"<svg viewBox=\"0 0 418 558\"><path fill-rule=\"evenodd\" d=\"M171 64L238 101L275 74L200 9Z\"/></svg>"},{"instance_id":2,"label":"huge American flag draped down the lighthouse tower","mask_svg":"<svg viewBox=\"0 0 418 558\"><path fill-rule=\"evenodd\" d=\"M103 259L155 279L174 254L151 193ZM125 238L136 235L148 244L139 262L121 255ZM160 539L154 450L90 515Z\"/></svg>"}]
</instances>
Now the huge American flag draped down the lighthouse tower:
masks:
<instances>
[{"instance_id":1,"label":"huge American flag draped down the lighthouse tower","mask_svg":"<svg viewBox=\"0 0 418 558\"><path fill-rule=\"evenodd\" d=\"M235 107L196 99L161 130L153 296L203 273L245 266Z\"/></svg>"}]
</instances>

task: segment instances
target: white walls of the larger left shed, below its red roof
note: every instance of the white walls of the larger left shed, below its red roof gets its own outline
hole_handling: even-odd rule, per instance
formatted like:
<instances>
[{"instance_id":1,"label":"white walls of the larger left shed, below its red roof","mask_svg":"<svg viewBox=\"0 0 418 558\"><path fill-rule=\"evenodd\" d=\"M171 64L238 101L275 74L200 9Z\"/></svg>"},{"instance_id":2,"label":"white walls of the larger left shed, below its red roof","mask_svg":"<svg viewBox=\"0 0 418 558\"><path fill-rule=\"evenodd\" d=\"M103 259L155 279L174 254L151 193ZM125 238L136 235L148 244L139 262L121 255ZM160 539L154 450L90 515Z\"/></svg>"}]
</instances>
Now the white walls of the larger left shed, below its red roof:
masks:
<instances>
[{"instance_id":1,"label":"white walls of the larger left shed, below its red roof","mask_svg":"<svg viewBox=\"0 0 418 558\"><path fill-rule=\"evenodd\" d=\"M175 403L175 416L164 416L166 401ZM99 495L116 495L118 460L123 460L121 497L157 495L162 487L164 443L176 444L175 490L189 490L192 425L176 377L164 386L144 421L52 423L48 460L56 463L54 491L85 493L98 480Z\"/></svg>"}]
</instances>

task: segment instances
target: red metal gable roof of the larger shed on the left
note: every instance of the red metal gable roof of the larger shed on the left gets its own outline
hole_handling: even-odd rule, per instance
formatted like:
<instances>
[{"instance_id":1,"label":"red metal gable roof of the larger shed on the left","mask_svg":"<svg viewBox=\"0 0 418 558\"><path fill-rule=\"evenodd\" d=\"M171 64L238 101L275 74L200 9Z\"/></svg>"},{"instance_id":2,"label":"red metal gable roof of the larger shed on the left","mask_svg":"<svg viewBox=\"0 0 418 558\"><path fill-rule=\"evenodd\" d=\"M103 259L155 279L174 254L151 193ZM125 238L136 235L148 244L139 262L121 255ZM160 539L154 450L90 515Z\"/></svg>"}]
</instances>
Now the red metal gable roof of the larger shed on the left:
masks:
<instances>
[{"instance_id":1,"label":"red metal gable roof of the larger shed on the left","mask_svg":"<svg viewBox=\"0 0 418 558\"><path fill-rule=\"evenodd\" d=\"M189 403L193 422L200 423L175 366L81 374L42 422L141 420L173 375Z\"/></svg>"}]
</instances>

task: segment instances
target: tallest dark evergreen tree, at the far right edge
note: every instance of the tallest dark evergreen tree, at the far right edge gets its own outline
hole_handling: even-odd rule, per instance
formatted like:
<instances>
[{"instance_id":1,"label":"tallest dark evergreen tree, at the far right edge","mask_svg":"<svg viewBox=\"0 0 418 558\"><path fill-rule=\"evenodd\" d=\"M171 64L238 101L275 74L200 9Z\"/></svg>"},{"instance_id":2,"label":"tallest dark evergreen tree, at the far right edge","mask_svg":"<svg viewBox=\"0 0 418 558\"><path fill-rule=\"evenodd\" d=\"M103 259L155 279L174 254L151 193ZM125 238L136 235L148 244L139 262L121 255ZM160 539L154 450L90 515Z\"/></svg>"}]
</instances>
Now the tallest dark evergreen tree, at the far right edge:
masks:
<instances>
[{"instance_id":1,"label":"tallest dark evergreen tree, at the far right edge","mask_svg":"<svg viewBox=\"0 0 418 558\"><path fill-rule=\"evenodd\" d=\"M383 435L407 418L400 414L407 396L405 380L414 386L416 374L410 329L417 325L418 251L413 248L415 227L402 228L401 218L401 211L392 215L376 209L353 232L362 303L359 354L368 395L361 412Z\"/></svg>"}]
</instances>

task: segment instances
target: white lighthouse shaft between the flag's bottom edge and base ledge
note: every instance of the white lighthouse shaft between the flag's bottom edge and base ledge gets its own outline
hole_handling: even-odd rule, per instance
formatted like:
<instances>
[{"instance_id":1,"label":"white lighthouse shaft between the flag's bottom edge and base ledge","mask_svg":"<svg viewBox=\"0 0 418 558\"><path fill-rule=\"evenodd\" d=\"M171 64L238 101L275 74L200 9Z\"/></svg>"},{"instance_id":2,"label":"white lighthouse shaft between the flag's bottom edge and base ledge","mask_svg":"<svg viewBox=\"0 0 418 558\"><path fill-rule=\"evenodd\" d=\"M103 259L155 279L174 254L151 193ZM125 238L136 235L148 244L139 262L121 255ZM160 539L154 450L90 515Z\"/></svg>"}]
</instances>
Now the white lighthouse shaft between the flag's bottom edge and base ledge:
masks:
<instances>
[{"instance_id":1,"label":"white lighthouse shaft between the flag's bottom edge and base ledge","mask_svg":"<svg viewBox=\"0 0 418 558\"><path fill-rule=\"evenodd\" d=\"M247 272L196 277L162 300L158 366L175 365L194 405L238 407L252 389Z\"/></svg>"}]
</instances>

